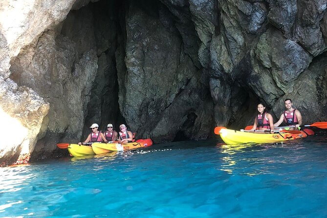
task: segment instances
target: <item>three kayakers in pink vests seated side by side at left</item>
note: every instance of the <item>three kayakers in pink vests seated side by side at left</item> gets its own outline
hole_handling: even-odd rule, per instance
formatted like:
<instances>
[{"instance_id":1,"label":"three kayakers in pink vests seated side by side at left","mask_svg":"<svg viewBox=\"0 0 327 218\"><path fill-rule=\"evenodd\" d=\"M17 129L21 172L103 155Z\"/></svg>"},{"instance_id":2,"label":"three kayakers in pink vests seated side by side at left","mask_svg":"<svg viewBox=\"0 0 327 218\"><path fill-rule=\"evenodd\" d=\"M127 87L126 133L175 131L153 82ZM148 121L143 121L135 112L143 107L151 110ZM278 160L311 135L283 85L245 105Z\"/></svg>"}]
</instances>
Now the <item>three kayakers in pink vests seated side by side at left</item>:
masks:
<instances>
[{"instance_id":1,"label":"three kayakers in pink vests seated side by side at left","mask_svg":"<svg viewBox=\"0 0 327 218\"><path fill-rule=\"evenodd\" d=\"M132 142L133 133L128 131L125 124L119 126L119 132L113 130L113 125L109 123L107 125L107 130L103 133L99 131L99 125L93 123L90 126L91 133L88 134L87 139L84 142L79 142L78 144L85 144L89 142L114 142L117 141L121 144Z\"/></svg>"}]
</instances>

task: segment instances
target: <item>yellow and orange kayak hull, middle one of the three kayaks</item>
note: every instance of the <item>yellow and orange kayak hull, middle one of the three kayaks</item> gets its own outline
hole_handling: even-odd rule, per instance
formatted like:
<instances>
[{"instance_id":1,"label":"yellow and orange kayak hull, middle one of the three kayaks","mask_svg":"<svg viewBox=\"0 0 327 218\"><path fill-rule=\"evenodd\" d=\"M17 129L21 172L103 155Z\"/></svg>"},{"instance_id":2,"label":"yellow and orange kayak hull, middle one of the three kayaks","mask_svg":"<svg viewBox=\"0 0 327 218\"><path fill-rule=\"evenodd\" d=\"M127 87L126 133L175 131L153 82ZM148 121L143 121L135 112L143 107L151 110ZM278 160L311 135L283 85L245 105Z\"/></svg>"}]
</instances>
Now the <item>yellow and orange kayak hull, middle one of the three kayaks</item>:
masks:
<instances>
[{"instance_id":1,"label":"yellow and orange kayak hull, middle one of the three kayaks","mask_svg":"<svg viewBox=\"0 0 327 218\"><path fill-rule=\"evenodd\" d=\"M108 152L120 152L128 151L132 149L150 147L153 142L150 138L139 139L135 142L120 144L120 143L93 143L92 149L95 154L108 153Z\"/></svg>"}]
</instances>

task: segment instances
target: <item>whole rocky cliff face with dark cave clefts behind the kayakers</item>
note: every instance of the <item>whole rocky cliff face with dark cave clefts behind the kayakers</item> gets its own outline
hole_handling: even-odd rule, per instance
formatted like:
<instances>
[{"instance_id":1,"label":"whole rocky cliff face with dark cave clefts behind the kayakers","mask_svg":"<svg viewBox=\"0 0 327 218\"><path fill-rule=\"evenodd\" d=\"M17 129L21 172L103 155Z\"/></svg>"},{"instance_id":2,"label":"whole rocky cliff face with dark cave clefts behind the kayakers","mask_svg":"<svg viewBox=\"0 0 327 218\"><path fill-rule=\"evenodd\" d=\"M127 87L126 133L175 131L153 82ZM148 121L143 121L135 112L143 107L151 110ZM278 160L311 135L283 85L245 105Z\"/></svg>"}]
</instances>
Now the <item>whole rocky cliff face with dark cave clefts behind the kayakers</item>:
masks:
<instances>
[{"instance_id":1,"label":"whole rocky cliff face with dark cave clefts behind the kayakers","mask_svg":"<svg viewBox=\"0 0 327 218\"><path fill-rule=\"evenodd\" d=\"M327 120L325 0L25 4L0 6L1 113L25 132L0 148L4 163L66 155L56 143L92 123L200 139L252 124L260 101L279 117L285 98L305 124Z\"/></svg>"}]
</instances>

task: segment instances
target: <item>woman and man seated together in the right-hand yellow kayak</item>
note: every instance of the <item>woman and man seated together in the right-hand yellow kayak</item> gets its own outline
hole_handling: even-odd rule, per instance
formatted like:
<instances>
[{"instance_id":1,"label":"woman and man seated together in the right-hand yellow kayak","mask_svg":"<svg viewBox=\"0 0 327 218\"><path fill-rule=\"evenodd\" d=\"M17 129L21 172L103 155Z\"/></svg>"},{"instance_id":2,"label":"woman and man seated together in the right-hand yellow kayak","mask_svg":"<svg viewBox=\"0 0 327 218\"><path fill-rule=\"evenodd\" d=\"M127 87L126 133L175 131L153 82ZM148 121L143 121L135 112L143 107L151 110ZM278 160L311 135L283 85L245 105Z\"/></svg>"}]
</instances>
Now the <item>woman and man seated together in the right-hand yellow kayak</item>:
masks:
<instances>
[{"instance_id":1,"label":"woman and man seated together in the right-hand yellow kayak","mask_svg":"<svg viewBox=\"0 0 327 218\"><path fill-rule=\"evenodd\" d=\"M293 108L292 100L287 98L284 101L286 110L283 111L280 119L274 124L273 117L267 112L263 103L258 104L258 115L256 116L251 130L264 130L270 133L274 132L274 128L283 122L289 126L289 130L294 130L302 124L302 116L298 109Z\"/></svg>"}]
</instances>

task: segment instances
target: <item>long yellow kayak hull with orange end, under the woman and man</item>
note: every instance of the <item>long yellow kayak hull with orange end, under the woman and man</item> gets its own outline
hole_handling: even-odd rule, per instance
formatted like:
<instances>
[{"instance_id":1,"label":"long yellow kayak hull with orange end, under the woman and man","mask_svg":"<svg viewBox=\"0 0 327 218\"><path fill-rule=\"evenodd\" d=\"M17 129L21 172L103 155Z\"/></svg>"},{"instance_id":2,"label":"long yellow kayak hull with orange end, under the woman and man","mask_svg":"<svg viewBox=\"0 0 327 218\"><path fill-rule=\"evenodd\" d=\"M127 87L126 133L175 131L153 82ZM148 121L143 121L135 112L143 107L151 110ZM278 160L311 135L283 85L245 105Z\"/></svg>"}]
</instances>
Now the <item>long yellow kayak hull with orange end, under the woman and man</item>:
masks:
<instances>
[{"instance_id":1,"label":"long yellow kayak hull with orange end, under the woman and man","mask_svg":"<svg viewBox=\"0 0 327 218\"><path fill-rule=\"evenodd\" d=\"M307 136L305 131L287 131L271 134L221 129L219 133L221 139L228 145L275 143L297 138L305 138Z\"/></svg>"}]
</instances>

